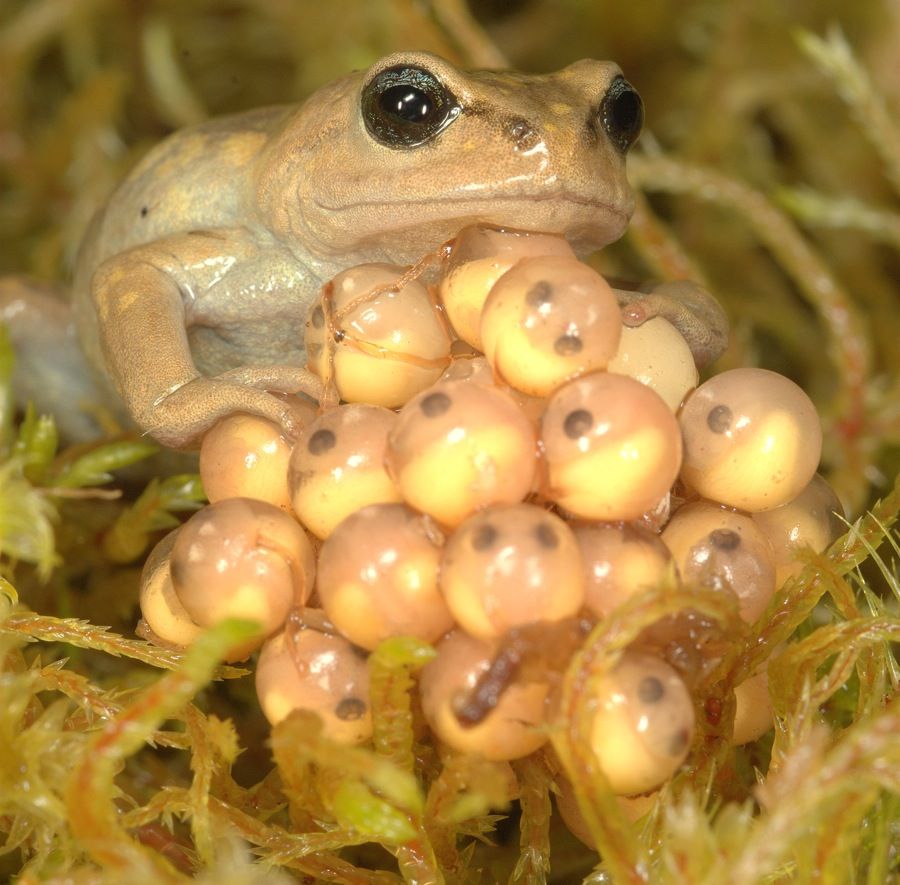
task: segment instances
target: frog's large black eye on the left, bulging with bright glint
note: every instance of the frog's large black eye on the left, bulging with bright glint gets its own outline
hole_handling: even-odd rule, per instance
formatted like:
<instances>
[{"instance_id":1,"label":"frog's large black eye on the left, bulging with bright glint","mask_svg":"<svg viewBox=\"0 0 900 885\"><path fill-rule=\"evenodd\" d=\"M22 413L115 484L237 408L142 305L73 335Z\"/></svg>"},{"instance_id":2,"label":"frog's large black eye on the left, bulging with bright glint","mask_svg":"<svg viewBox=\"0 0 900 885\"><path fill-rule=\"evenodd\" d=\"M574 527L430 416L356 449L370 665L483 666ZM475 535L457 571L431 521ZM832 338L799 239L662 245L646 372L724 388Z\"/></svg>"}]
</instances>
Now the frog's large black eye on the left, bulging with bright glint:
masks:
<instances>
[{"instance_id":1,"label":"frog's large black eye on the left, bulging with bright glint","mask_svg":"<svg viewBox=\"0 0 900 885\"><path fill-rule=\"evenodd\" d=\"M459 112L456 96L425 68L387 68L362 92L366 129L386 147L418 147L445 129Z\"/></svg>"}]
</instances>

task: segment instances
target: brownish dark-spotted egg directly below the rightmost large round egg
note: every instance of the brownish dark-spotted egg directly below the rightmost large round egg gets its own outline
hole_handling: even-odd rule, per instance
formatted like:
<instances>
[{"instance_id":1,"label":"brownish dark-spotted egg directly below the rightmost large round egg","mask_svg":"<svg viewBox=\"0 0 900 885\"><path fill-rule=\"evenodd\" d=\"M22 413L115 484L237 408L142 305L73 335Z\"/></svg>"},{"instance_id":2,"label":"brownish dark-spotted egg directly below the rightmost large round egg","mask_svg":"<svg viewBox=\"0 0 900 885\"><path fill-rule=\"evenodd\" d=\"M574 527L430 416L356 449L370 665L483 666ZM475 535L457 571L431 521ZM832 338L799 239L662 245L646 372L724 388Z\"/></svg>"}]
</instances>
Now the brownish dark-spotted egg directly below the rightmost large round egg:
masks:
<instances>
[{"instance_id":1,"label":"brownish dark-spotted egg directly below the rightmost large round egg","mask_svg":"<svg viewBox=\"0 0 900 885\"><path fill-rule=\"evenodd\" d=\"M745 621L765 611L775 593L774 557L749 516L698 501L676 511L662 539L686 581L734 592Z\"/></svg>"}]
</instances>

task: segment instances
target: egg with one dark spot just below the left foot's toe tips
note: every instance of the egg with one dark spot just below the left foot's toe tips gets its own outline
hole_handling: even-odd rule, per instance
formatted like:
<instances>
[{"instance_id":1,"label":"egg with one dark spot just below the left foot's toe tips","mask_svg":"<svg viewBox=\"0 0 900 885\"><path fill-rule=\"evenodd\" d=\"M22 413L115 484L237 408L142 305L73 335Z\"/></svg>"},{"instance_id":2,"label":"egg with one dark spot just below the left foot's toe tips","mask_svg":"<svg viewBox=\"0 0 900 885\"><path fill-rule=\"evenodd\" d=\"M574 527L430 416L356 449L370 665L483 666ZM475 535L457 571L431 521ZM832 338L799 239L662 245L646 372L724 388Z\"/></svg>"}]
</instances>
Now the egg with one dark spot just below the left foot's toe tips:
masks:
<instances>
[{"instance_id":1,"label":"egg with one dark spot just below the left foot's toe tips","mask_svg":"<svg viewBox=\"0 0 900 885\"><path fill-rule=\"evenodd\" d=\"M381 406L352 404L329 409L297 440L290 461L294 511L317 537L367 504L400 500L384 458L397 415Z\"/></svg>"}]
</instances>

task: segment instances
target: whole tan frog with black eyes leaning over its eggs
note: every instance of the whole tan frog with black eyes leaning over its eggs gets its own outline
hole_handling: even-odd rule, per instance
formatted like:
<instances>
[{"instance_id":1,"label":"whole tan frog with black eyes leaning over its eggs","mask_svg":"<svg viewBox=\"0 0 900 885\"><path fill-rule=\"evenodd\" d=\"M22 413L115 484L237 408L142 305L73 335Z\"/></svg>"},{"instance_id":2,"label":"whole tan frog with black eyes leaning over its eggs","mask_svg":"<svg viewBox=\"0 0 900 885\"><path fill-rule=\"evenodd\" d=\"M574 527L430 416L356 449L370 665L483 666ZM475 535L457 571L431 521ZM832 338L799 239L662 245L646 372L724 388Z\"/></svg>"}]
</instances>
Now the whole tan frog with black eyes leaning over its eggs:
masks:
<instances>
[{"instance_id":1,"label":"whole tan frog with black eyes leaning over its eggs","mask_svg":"<svg viewBox=\"0 0 900 885\"><path fill-rule=\"evenodd\" d=\"M96 432L78 409L94 400L174 449L234 413L294 437L290 398L320 393L303 330L326 281L414 264L471 224L600 249L632 214L625 164L642 123L614 62L526 75L393 53L299 105L163 140L90 223L71 307L7 281L0 320L25 342L28 394L40 405L52 388L56 414L79 412L60 419L74 436ZM616 292L625 322L666 317L698 363L723 349L727 320L700 287Z\"/></svg>"}]
</instances>

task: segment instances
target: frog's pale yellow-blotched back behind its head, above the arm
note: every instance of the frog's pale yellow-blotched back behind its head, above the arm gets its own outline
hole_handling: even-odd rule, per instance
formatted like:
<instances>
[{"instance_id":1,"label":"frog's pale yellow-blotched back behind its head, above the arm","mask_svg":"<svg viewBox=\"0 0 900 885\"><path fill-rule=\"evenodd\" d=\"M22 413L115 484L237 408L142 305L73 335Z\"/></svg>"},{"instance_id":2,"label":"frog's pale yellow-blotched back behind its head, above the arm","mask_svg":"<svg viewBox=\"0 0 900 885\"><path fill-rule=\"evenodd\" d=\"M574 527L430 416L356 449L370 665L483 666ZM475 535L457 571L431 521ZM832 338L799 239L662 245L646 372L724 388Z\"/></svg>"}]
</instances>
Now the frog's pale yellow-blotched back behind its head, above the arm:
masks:
<instances>
[{"instance_id":1,"label":"frog's pale yellow-blotched back behind its head, above the arm","mask_svg":"<svg viewBox=\"0 0 900 885\"><path fill-rule=\"evenodd\" d=\"M192 230L253 224L253 165L289 114L270 107L176 132L134 168L94 219L76 272L78 289L113 255Z\"/></svg>"}]
</instances>

